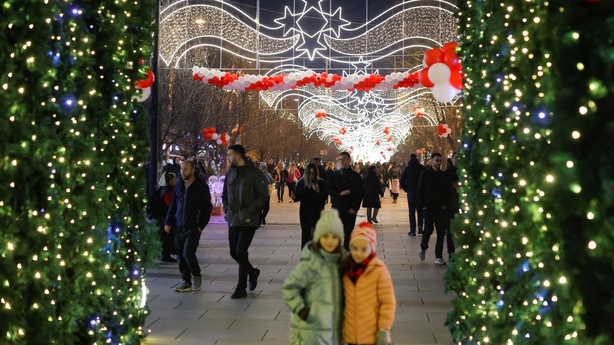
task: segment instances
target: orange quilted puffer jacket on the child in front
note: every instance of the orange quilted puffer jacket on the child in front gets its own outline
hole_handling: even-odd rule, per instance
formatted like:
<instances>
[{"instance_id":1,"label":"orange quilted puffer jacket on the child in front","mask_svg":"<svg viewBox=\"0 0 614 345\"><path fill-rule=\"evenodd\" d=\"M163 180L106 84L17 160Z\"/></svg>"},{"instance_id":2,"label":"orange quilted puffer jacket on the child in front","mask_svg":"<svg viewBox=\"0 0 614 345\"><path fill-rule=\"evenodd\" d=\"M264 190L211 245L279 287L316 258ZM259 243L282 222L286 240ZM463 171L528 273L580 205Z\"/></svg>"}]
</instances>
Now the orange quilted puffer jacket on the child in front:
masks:
<instances>
[{"instance_id":1,"label":"orange quilted puffer jacket on the child in front","mask_svg":"<svg viewBox=\"0 0 614 345\"><path fill-rule=\"evenodd\" d=\"M343 291L343 343L375 344L379 328L392 330L397 300L390 273L378 257L371 259L356 284L343 276Z\"/></svg>"}]
</instances>

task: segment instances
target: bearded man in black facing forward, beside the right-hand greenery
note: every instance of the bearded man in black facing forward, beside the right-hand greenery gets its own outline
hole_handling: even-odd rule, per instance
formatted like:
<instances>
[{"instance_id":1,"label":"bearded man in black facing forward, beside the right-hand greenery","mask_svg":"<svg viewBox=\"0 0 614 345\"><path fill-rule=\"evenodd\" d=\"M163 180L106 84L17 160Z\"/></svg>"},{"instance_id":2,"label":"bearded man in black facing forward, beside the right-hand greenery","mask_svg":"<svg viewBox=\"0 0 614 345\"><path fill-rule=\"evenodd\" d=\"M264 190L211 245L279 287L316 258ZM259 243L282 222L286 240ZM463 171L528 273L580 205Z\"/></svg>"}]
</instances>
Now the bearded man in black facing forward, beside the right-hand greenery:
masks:
<instances>
[{"instance_id":1,"label":"bearded man in black facing forward, beside the right-hand greenery","mask_svg":"<svg viewBox=\"0 0 614 345\"><path fill-rule=\"evenodd\" d=\"M429 239L433 234L433 224L437 228L437 244L435 244L435 265L445 265L443 261L443 239L446 235L446 204L449 201L450 181L448 173L441 170L443 158L441 153L431 156L432 167L422 171L418 180L418 204L424 212L424 234L418 254L424 260L429 249Z\"/></svg>"}]
</instances>

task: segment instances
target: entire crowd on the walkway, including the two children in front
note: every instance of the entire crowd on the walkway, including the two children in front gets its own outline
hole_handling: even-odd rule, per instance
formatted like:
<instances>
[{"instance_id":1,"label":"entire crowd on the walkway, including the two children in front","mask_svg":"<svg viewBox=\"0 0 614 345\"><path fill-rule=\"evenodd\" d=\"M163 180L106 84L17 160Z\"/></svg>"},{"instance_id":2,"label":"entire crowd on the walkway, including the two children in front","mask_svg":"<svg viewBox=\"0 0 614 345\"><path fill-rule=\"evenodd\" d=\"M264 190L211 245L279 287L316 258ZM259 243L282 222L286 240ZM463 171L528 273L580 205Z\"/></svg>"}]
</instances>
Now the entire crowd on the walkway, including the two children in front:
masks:
<instances>
[{"instance_id":1,"label":"entire crowd on the walkway, including the two children in front","mask_svg":"<svg viewBox=\"0 0 614 345\"><path fill-rule=\"evenodd\" d=\"M400 189L407 194L408 235L422 235L419 259L425 259L435 229L435 264L446 264L445 238L448 260L454 258L450 221L459 212L456 153L445 170L440 153L433 153L426 165L415 154L402 165L352 165L349 153L341 152L336 165L332 161L322 165L320 158L314 158L306 166L292 162L286 167L273 158L252 161L243 146L231 145L227 157L230 168L223 184L223 215L230 256L239 266L232 299L247 297L247 290L255 290L258 284L260 270L249 262L249 246L258 227L266 225L271 196L277 195L282 203L287 186L289 201L300 203L301 256L282 286L292 312L293 344L390 342L394 289L386 265L376 257L373 228L380 221L378 211L386 187L392 203L397 203ZM161 204L157 219L163 262L174 262L171 255L176 254L182 276L177 292L200 290L196 247L212 211L206 171L199 169L196 160L175 160L168 166L153 197ZM332 209L325 207L329 198ZM361 206L366 208L367 221L357 226ZM148 213L153 214L154 209L148 203Z\"/></svg>"}]
</instances>

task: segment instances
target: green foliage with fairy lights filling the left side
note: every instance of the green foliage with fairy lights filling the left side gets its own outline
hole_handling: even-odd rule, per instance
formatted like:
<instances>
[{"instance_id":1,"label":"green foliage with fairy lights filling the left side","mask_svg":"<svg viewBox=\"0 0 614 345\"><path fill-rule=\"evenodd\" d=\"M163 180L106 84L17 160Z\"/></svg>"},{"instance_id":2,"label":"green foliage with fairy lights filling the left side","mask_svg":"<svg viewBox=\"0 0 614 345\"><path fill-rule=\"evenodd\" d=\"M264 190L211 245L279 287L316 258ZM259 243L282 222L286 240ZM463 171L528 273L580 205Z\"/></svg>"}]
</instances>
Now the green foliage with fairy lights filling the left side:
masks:
<instances>
[{"instance_id":1,"label":"green foliage with fairy lights filling the left side","mask_svg":"<svg viewBox=\"0 0 614 345\"><path fill-rule=\"evenodd\" d=\"M0 343L144 336L146 78L155 1L0 10Z\"/></svg>"}]
</instances>

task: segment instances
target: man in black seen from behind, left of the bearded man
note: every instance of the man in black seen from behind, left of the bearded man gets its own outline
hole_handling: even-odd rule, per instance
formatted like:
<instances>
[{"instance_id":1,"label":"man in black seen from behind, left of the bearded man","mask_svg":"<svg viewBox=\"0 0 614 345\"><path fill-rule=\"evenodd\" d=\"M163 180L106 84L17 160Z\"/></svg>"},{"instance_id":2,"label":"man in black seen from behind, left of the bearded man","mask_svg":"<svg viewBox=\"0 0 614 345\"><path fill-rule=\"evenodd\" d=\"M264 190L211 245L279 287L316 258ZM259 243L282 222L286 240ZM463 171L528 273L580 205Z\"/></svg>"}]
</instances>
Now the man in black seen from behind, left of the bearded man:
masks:
<instances>
[{"instance_id":1,"label":"man in black seen from behind, left of the bearded man","mask_svg":"<svg viewBox=\"0 0 614 345\"><path fill-rule=\"evenodd\" d=\"M418 179L424 171L424 165L418 161L416 153L411 153L410 161L403 169L400 187L407 193L407 206L410 208L410 232L407 235L416 236L416 213L418 213L418 235L422 235L422 209L418 207Z\"/></svg>"}]
</instances>

